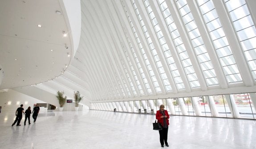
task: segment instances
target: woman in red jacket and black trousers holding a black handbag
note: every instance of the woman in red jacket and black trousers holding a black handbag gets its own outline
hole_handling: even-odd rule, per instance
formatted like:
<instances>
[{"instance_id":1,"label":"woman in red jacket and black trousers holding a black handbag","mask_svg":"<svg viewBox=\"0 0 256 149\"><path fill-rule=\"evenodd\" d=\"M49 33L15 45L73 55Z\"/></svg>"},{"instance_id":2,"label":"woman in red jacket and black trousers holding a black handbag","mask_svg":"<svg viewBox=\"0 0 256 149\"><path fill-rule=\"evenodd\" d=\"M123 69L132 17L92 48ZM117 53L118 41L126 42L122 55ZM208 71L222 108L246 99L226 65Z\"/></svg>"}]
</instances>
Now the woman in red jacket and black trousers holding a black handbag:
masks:
<instances>
[{"instance_id":1,"label":"woman in red jacket and black trousers holding a black handbag","mask_svg":"<svg viewBox=\"0 0 256 149\"><path fill-rule=\"evenodd\" d=\"M167 143L167 136L170 116L167 110L164 110L164 105L160 105L160 110L156 112L155 117L157 119L157 122L160 123L163 127L162 130L159 130L161 147L163 147L164 143L168 147L169 145Z\"/></svg>"}]
</instances>

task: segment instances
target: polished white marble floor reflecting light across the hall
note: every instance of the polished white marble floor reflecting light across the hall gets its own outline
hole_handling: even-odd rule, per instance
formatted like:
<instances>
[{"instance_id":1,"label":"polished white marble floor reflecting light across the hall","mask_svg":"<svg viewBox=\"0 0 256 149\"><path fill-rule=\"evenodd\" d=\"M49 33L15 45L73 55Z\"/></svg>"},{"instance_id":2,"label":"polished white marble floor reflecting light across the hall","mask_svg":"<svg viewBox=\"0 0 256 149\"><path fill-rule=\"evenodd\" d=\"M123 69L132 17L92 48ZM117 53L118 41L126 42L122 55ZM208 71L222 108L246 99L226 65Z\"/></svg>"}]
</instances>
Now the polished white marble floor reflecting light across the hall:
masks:
<instances>
[{"instance_id":1,"label":"polished white marble floor reflecting light across the hall","mask_svg":"<svg viewBox=\"0 0 256 149\"><path fill-rule=\"evenodd\" d=\"M37 122L11 127L0 113L0 149L256 149L256 121L170 117L169 147L161 148L155 115L108 111L40 111ZM31 119L32 116L31 116Z\"/></svg>"}]
</instances>

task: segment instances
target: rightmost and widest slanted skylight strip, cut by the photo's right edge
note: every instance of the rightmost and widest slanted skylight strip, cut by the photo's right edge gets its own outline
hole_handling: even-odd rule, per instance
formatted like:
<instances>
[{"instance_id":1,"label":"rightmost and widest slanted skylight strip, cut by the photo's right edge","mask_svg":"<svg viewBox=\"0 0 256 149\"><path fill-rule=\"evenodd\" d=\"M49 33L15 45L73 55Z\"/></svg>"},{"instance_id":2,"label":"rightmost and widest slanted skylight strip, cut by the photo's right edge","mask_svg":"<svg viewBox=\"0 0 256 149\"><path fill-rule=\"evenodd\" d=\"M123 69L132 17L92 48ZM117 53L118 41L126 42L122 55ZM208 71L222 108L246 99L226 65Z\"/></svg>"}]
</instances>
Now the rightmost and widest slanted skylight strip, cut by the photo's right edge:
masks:
<instances>
[{"instance_id":1,"label":"rightmost and widest slanted skylight strip, cut by the photo's right edge","mask_svg":"<svg viewBox=\"0 0 256 149\"><path fill-rule=\"evenodd\" d=\"M245 0L225 0L228 12L256 81L256 29Z\"/></svg>"}]
</instances>

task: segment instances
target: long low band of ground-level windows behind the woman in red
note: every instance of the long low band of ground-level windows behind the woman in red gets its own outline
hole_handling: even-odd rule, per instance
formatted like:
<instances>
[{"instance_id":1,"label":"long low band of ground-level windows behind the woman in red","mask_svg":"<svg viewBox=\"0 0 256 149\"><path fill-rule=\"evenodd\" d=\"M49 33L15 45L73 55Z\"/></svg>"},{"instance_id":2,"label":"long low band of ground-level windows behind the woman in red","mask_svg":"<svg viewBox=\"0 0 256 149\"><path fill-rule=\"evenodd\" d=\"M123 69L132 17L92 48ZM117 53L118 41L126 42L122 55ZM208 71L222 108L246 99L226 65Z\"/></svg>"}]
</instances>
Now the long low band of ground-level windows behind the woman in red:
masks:
<instances>
[{"instance_id":1,"label":"long low band of ground-level windows behind the woman in red","mask_svg":"<svg viewBox=\"0 0 256 149\"><path fill-rule=\"evenodd\" d=\"M254 100L252 100L254 97ZM253 102L254 101L254 102ZM91 103L93 110L155 114L160 105L170 115L256 120L256 93Z\"/></svg>"}]
</instances>

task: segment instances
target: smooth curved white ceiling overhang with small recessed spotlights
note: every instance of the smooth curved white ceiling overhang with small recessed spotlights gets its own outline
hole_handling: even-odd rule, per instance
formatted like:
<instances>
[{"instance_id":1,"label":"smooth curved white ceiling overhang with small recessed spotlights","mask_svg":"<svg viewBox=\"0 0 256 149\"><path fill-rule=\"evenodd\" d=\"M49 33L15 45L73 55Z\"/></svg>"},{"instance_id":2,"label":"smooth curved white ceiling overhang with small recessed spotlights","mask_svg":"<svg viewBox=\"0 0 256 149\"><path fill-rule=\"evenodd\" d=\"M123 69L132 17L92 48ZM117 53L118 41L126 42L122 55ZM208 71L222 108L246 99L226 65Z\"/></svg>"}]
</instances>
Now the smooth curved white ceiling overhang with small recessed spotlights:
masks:
<instances>
[{"instance_id":1,"label":"smooth curved white ceiling overhang with small recessed spotlights","mask_svg":"<svg viewBox=\"0 0 256 149\"><path fill-rule=\"evenodd\" d=\"M34 85L61 75L73 49L57 0L3 0L0 4L2 89ZM42 25L38 27L37 25ZM68 49L65 45L69 46Z\"/></svg>"}]
</instances>

